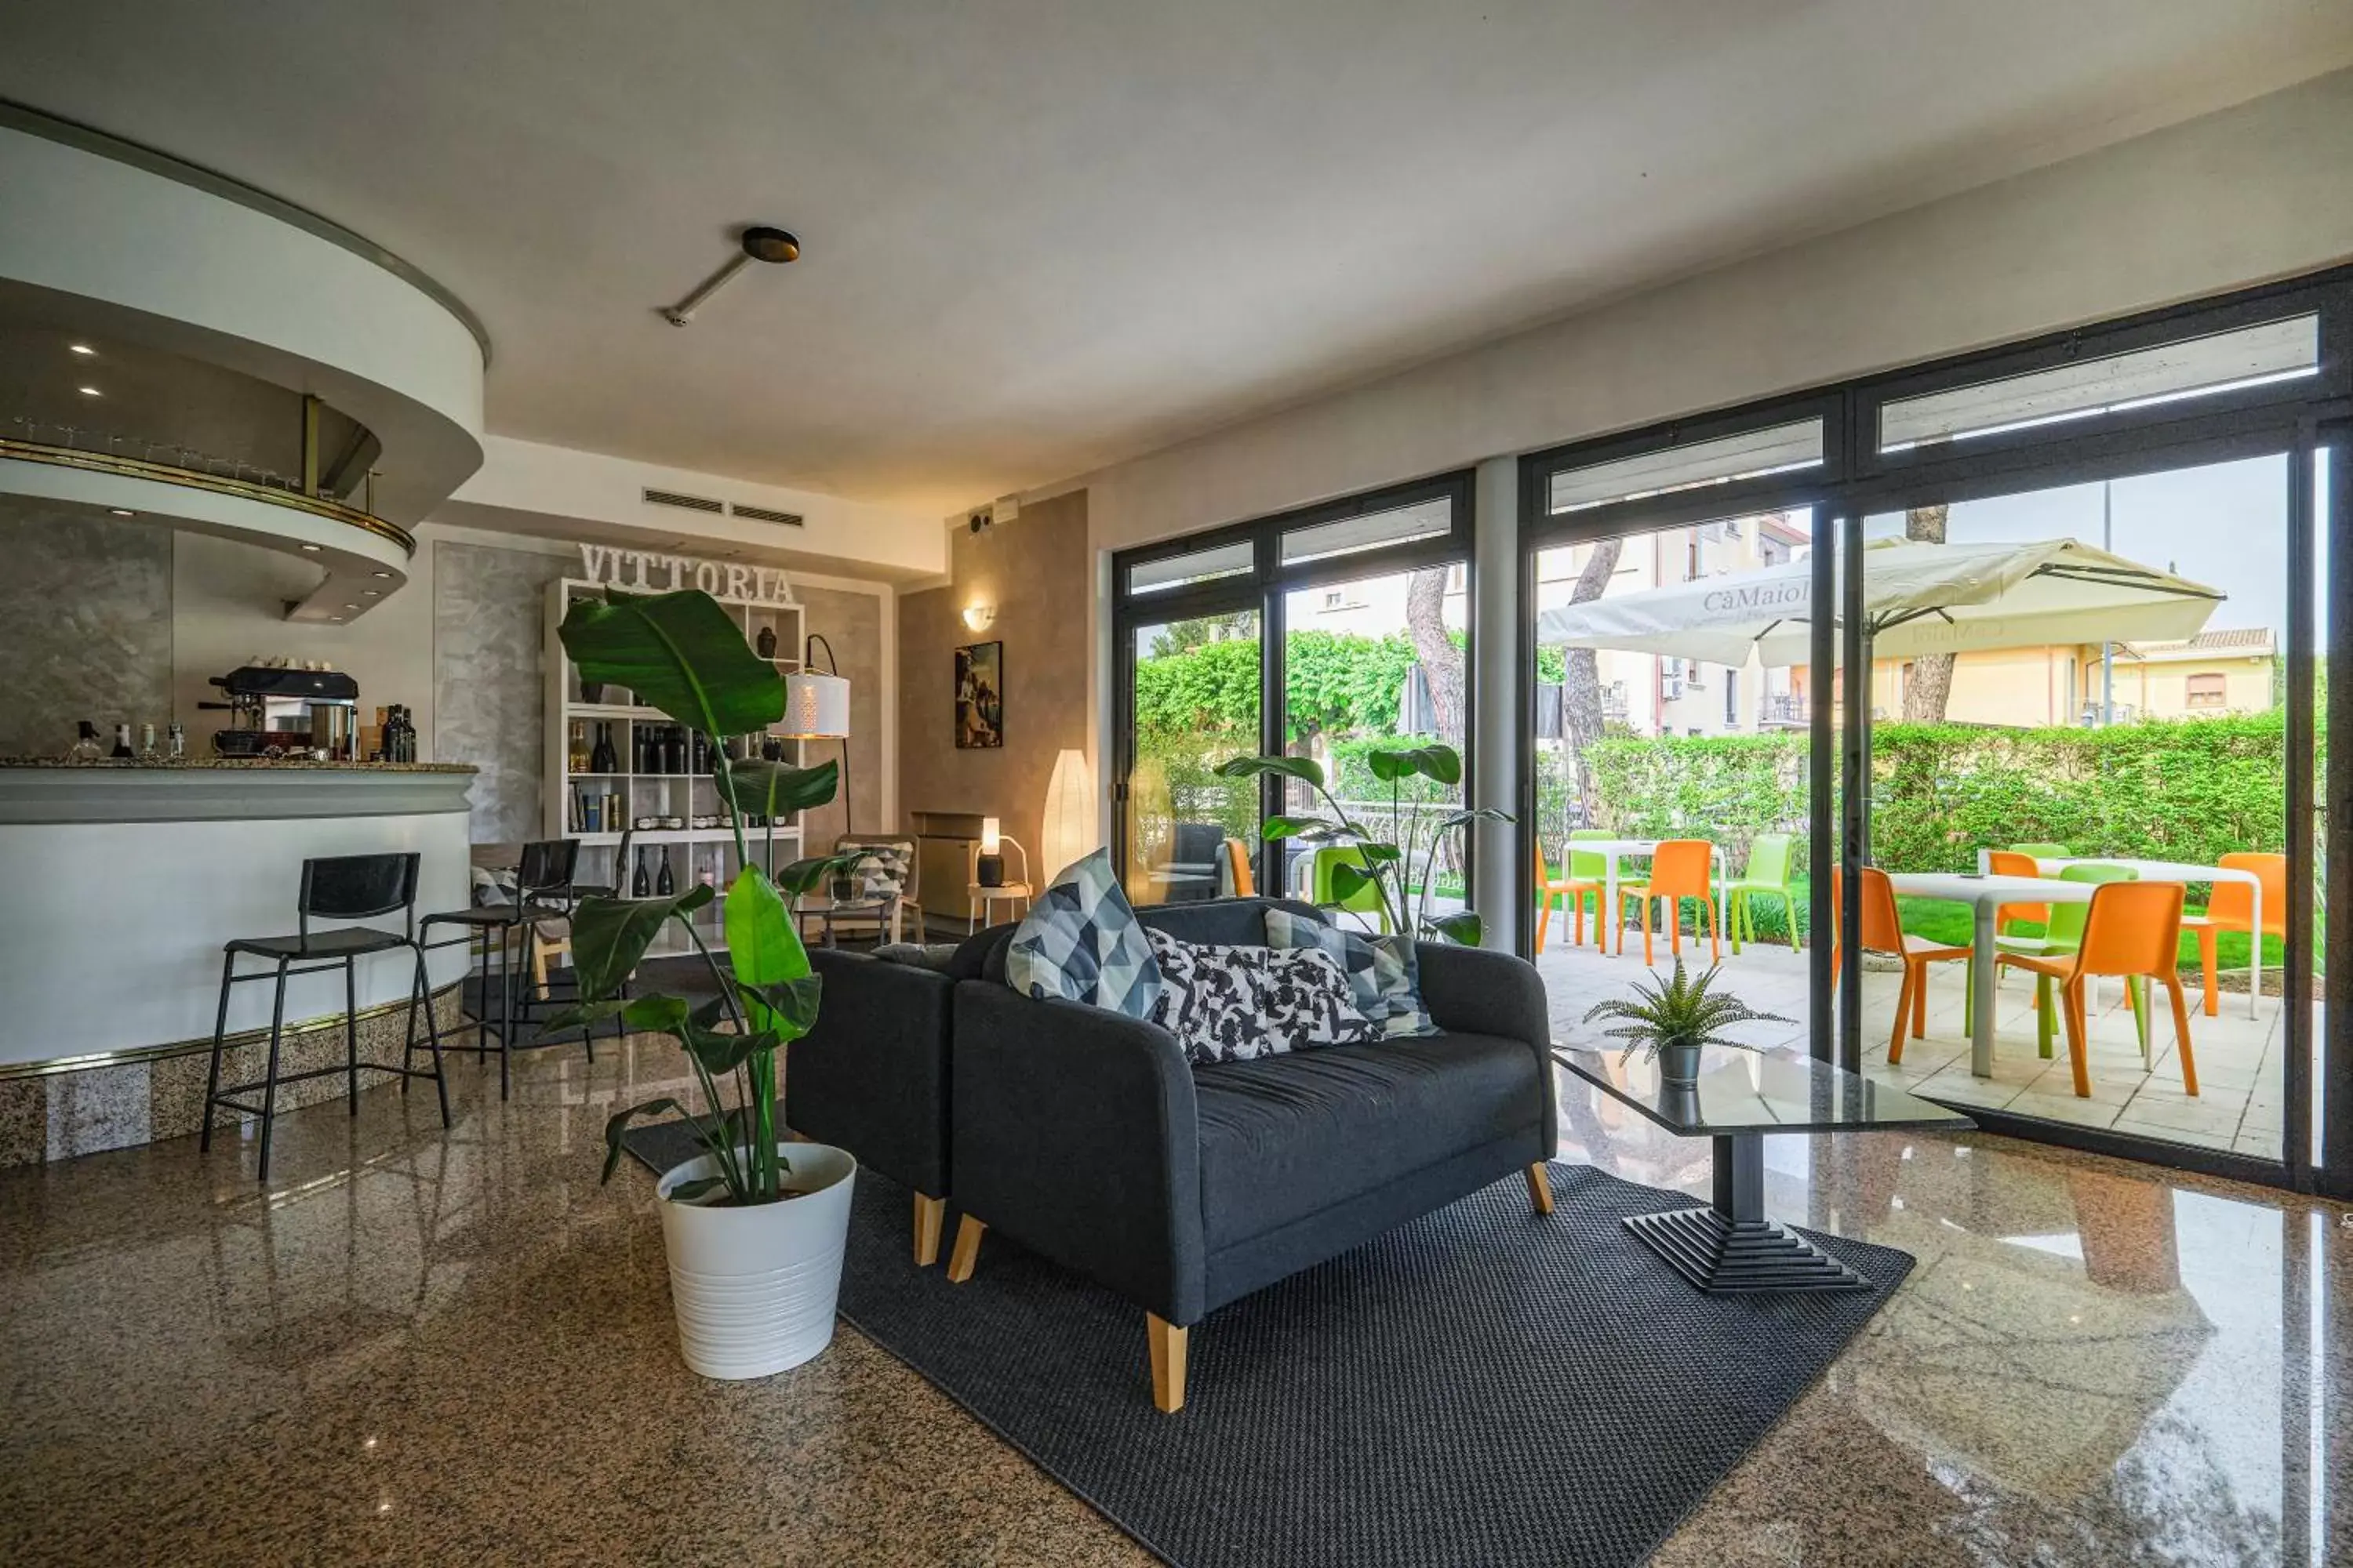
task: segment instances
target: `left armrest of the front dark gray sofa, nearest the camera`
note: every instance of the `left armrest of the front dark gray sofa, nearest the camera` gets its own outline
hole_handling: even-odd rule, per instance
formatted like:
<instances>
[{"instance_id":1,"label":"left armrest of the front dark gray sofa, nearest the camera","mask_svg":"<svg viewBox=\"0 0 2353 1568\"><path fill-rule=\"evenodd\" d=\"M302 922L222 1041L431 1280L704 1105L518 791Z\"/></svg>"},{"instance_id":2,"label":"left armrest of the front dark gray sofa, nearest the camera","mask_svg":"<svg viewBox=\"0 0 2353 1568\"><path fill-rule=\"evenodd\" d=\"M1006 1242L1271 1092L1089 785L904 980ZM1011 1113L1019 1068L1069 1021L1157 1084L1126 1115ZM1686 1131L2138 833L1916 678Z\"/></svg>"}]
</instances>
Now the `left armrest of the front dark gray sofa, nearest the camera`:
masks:
<instances>
[{"instance_id":1,"label":"left armrest of the front dark gray sofa, nearest the camera","mask_svg":"<svg viewBox=\"0 0 2353 1568\"><path fill-rule=\"evenodd\" d=\"M955 1204L1172 1324L1202 1314L1193 1070L1151 1023L955 987Z\"/></svg>"}]
</instances>

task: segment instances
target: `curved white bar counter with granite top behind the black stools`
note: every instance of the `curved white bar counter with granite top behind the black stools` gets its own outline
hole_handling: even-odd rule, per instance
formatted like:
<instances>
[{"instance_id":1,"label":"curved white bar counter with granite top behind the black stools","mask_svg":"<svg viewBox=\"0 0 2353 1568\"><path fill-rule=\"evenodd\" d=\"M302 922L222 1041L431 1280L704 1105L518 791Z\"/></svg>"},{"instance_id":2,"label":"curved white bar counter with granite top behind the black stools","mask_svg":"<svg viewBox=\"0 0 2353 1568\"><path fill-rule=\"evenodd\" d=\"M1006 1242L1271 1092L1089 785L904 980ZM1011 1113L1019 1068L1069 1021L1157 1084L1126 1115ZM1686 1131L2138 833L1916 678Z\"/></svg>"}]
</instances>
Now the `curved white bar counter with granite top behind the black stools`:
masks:
<instances>
[{"instance_id":1,"label":"curved white bar counter with granite top behind the black stools","mask_svg":"<svg viewBox=\"0 0 2353 1568\"><path fill-rule=\"evenodd\" d=\"M464 907L473 776L445 762L0 757L0 1077L209 1044L221 945L294 931L311 856L416 851L416 912ZM435 990L464 971L464 947L431 954ZM405 952L362 959L360 1011L402 1004L412 983ZM268 985L238 985L228 1032L266 1027L268 1009ZM341 1011L336 973L287 985L289 1027Z\"/></svg>"}]
</instances>

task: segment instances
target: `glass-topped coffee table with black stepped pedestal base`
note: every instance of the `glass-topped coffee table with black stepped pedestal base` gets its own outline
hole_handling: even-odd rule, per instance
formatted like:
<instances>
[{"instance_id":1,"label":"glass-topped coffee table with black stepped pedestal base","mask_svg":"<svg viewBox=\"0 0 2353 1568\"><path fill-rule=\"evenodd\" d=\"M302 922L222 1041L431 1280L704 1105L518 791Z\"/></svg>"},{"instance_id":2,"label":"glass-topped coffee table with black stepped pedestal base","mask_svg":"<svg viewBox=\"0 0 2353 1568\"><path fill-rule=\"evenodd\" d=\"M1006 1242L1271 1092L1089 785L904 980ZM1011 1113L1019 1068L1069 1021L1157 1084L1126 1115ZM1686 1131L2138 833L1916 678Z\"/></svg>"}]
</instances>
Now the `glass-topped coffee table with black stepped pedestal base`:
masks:
<instances>
[{"instance_id":1,"label":"glass-topped coffee table with black stepped pedestal base","mask_svg":"<svg viewBox=\"0 0 2353 1568\"><path fill-rule=\"evenodd\" d=\"M1711 1295L1760 1291L1861 1291L1871 1281L1805 1237L1765 1218L1769 1133L1866 1133L1873 1128L1977 1126L1962 1114L1873 1084L1809 1056L1711 1046L1699 1081L1671 1086L1659 1065L1617 1051L1555 1048L1553 1060L1678 1138L1715 1143L1715 1197L1706 1208L1668 1208L1626 1229Z\"/></svg>"}]
</instances>

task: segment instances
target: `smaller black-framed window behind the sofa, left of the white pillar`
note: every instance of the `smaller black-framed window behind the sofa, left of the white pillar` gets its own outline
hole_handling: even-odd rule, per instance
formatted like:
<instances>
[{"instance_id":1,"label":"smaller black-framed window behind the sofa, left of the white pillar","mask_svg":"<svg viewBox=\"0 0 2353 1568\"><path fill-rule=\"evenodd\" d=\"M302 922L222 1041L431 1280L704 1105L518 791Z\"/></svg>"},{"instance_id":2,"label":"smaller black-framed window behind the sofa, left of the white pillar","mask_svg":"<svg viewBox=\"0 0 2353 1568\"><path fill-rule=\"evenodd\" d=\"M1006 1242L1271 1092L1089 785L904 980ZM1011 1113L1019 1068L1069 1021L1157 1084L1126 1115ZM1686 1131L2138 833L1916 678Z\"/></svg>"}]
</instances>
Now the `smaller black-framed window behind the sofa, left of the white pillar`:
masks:
<instances>
[{"instance_id":1,"label":"smaller black-framed window behind the sofa, left of the white pillar","mask_svg":"<svg viewBox=\"0 0 2353 1568\"><path fill-rule=\"evenodd\" d=\"M1318 802L1235 780L1231 757L1308 757L1351 816L1428 839L1461 785L1377 780L1367 755L1466 748L1468 475L1351 496L1115 562L1122 656L1120 867L1134 903L1238 891L1329 893L1339 851L1268 842L1261 823ZM1419 860L1419 858L1417 858ZM1468 865L1442 853L1428 912L1459 907ZM1372 910L1344 919L1379 924Z\"/></svg>"}]
</instances>

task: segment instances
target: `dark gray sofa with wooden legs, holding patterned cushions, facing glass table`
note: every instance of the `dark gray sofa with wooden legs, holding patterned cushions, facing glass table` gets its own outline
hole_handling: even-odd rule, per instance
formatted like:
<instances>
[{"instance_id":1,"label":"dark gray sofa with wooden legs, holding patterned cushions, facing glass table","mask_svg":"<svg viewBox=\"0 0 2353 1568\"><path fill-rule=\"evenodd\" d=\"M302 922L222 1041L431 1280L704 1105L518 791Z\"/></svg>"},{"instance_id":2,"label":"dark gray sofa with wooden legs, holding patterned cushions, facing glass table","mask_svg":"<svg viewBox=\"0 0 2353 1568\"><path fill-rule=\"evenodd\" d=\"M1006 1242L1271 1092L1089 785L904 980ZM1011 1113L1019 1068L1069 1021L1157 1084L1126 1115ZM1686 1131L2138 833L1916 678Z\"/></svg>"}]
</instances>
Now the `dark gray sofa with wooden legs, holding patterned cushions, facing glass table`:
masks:
<instances>
[{"instance_id":1,"label":"dark gray sofa with wooden legs, holding patterned cushions, facing glass table","mask_svg":"<svg viewBox=\"0 0 2353 1568\"><path fill-rule=\"evenodd\" d=\"M1264 945L1268 903L1139 917L1184 940ZM948 1279L969 1279L995 1227L1125 1295L1148 1314L1162 1410L1184 1403L1186 1328L1217 1307L1513 1171L1551 1211L1551 1032L1522 959L1421 943L1442 1034L1195 1070L1158 1025L1016 994L1009 933L981 933L981 973L955 985Z\"/></svg>"}]
</instances>

